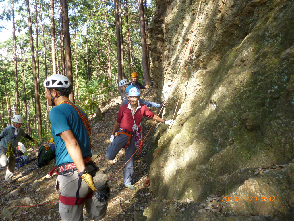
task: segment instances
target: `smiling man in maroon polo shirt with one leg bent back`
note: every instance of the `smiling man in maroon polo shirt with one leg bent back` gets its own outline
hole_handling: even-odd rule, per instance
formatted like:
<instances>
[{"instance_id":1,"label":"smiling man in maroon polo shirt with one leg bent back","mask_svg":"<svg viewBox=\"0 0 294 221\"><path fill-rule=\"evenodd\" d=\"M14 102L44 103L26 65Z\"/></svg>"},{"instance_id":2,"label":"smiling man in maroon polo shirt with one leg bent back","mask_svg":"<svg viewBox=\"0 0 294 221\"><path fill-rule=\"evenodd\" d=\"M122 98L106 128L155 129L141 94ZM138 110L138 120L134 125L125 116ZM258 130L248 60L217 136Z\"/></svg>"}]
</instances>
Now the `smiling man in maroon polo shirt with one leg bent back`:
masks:
<instances>
[{"instance_id":1,"label":"smiling man in maroon polo shirt with one leg bent back","mask_svg":"<svg viewBox=\"0 0 294 221\"><path fill-rule=\"evenodd\" d=\"M138 125L141 123L143 116L152 118L154 120L157 118L156 121L168 125L173 124L173 120L163 120L162 118L156 116L152 111L150 111L146 105L139 103L140 90L138 88L131 88L128 95L130 103L122 105L119 109L118 115L116 117L116 123L114 124L112 133L110 135L111 144L106 150L106 158L109 160L115 159L120 149L122 149L128 143L129 137L132 136L129 145L127 145L126 147L125 163L136 151L136 140L133 138L133 134L138 131ZM116 139L114 139L114 135L117 130L120 134L116 137ZM131 183L134 169L133 164L134 157L132 157L125 166L123 180L123 187L127 187L131 190L136 189L136 187L134 187Z\"/></svg>"}]
</instances>

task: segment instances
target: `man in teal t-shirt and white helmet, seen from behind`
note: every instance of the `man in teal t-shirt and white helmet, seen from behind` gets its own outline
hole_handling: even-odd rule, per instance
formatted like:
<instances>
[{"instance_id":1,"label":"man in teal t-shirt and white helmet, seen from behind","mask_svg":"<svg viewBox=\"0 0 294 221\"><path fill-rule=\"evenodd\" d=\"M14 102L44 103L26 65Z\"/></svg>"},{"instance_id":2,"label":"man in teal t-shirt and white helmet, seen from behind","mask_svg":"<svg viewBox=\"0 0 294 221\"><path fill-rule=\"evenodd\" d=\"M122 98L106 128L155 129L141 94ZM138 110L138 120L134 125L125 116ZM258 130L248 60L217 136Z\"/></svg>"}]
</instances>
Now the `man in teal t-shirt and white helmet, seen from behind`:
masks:
<instances>
[{"instance_id":1,"label":"man in teal t-shirt and white helmet, seen from behind","mask_svg":"<svg viewBox=\"0 0 294 221\"><path fill-rule=\"evenodd\" d=\"M107 209L110 188L107 175L99 173L91 159L91 128L86 113L69 100L70 80L51 75L44 81L45 97L55 143L59 213L63 221L82 221L83 207L91 220L101 220ZM94 191L94 192L93 192Z\"/></svg>"}]
</instances>

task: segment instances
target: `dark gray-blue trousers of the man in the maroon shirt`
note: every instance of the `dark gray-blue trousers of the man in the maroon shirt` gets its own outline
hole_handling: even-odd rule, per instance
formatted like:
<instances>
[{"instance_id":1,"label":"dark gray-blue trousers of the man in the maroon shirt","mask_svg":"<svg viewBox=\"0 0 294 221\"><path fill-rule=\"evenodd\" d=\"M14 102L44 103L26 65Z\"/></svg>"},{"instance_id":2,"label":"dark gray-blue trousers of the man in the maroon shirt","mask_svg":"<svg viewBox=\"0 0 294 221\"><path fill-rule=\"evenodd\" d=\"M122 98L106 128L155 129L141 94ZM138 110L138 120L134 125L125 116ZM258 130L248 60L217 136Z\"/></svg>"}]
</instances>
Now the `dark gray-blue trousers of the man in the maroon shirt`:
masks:
<instances>
[{"instance_id":1,"label":"dark gray-blue trousers of the man in the maroon shirt","mask_svg":"<svg viewBox=\"0 0 294 221\"><path fill-rule=\"evenodd\" d=\"M114 141L108 146L106 150L106 158L108 160L115 159L118 152L128 143L128 136L124 134L118 135ZM135 147L135 139L133 137L131 138L130 146L126 148L126 159L125 163L131 158L133 153L136 151ZM125 166L125 174L123 178L123 184L124 185L130 185L132 183L132 177L133 177L133 170L134 170L134 156L128 161L128 163Z\"/></svg>"}]
</instances>

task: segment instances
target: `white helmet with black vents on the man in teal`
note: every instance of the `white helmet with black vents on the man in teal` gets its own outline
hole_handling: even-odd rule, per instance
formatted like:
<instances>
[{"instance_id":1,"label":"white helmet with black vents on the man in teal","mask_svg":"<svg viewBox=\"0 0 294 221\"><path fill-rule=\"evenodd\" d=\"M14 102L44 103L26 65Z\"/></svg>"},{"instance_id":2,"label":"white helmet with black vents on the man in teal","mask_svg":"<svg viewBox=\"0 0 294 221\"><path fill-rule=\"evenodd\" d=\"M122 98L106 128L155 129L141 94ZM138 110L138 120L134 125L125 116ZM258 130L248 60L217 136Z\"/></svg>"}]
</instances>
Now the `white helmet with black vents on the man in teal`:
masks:
<instances>
[{"instance_id":1,"label":"white helmet with black vents on the man in teal","mask_svg":"<svg viewBox=\"0 0 294 221\"><path fill-rule=\"evenodd\" d=\"M73 90L71 81L64 75L51 75L44 81L44 87L70 94Z\"/></svg>"}]
</instances>

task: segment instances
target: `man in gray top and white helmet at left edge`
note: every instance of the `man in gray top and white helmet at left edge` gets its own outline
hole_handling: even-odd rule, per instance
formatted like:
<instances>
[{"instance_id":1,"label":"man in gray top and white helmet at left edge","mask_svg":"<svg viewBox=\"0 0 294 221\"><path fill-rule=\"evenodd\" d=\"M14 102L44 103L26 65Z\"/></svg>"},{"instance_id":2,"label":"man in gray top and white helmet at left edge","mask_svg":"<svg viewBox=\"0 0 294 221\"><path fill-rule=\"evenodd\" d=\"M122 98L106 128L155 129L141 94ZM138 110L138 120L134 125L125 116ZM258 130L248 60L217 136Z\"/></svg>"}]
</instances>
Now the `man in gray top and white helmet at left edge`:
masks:
<instances>
[{"instance_id":1,"label":"man in gray top and white helmet at left edge","mask_svg":"<svg viewBox=\"0 0 294 221\"><path fill-rule=\"evenodd\" d=\"M22 116L18 114L14 115L11 121L13 124L4 128L0 134L0 164L3 167L7 166L5 183L15 183L15 180L12 179L15 167L15 156L13 154L13 156L10 156L7 159L6 155L9 143L14 153L21 137L25 137L39 146L38 142L31 138L31 136L21 128L21 125L24 122Z\"/></svg>"}]
</instances>

